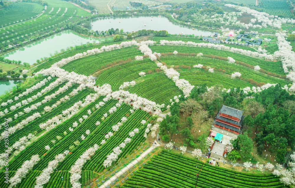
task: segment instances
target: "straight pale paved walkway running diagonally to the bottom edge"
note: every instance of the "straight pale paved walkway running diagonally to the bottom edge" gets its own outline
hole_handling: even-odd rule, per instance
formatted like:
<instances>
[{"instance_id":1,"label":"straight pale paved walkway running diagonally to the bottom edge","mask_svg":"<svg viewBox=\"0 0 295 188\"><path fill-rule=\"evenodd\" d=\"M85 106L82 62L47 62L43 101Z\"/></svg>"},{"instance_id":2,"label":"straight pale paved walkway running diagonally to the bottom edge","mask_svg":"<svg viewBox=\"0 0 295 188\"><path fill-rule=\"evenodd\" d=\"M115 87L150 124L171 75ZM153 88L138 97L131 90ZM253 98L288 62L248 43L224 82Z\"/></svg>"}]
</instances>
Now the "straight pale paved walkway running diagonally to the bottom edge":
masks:
<instances>
[{"instance_id":1,"label":"straight pale paved walkway running diagonally to the bottom edge","mask_svg":"<svg viewBox=\"0 0 295 188\"><path fill-rule=\"evenodd\" d=\"M115 179L119 178L122 174L124 174L124 172L126 172L129 168L132 168L135 164L137 164L139 161L141 161L153 149L155 149L158 146L160 146L160 144L158 144L158 142L156 142L156 143L157 143L156 145L152 145L150 148L148 148L147 150L145 150L145 152L143 152L139 157L137 157L134 161L132 161L131 163L129 163L127 166L125 166L119 172L117 172L114 176L112 176L109 180L107 180L106 182L104 182L104 184L102 184L99 188L105 188L106 186L108 186L110 183L112 183L113 181L115 181Z\"/></svg>"}]
</instances>

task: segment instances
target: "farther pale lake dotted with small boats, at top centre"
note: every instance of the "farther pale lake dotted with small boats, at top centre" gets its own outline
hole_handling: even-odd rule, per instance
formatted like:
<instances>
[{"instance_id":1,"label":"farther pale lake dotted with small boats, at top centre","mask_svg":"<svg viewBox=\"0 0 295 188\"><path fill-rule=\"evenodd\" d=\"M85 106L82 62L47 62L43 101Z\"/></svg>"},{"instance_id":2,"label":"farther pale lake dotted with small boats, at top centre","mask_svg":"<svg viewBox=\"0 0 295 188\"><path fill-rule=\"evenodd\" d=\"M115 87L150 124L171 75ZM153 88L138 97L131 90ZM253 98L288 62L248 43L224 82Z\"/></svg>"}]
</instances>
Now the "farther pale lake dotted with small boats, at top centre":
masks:
<instances>
[{"instance_id":1,"label":"farther pale lake dotted with small boats, at top centre","mask_svg":"<svg viewBox=\"0 0 295 188\"><path fill-rule=\"evenodd\" d=\"M151 20L152 19L152 20ZM111 21L111 22L110 22ZM213 34L213 31L195 29L193 30L191 27L178 25L176 23L171 22L165 16L122 16L122 17L107 17L107 18L96 18L91 21L91 29L96 31L106 31L111 28L115 30L118 28L123 29L124 32L132 32L138 31L142 29L146 30L166 30L170 34L189 34L196 36L208 36ZM146 25L146 26L145 26Z\"/></svg>"}]
</instances>

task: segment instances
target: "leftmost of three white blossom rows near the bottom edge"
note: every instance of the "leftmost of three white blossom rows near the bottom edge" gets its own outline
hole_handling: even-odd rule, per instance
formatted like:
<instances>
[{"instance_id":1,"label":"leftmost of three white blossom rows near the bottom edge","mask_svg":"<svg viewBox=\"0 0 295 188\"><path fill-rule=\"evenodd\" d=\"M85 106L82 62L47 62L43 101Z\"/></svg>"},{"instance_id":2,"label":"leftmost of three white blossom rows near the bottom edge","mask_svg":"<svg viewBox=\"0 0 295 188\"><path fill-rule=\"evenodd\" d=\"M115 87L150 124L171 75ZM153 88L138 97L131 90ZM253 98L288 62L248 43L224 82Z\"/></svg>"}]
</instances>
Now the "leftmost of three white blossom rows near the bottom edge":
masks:
<instances>
[{"instance_id":1,"label":"leftmost of three white blossom rows near the bottom edge","mask_svg":"<svg viewBox=\"0 0 295 188\"><path fill-rule=\"evenodd\" d=\"M29 170L31 170L38 161L40 161L38 155L33 155L30 160L24 161L21 168L18 168L14 176L9 179L9 188L15 187L17 184L21 183L22 179L26 177Z\"/></svg>"}]
</instances>

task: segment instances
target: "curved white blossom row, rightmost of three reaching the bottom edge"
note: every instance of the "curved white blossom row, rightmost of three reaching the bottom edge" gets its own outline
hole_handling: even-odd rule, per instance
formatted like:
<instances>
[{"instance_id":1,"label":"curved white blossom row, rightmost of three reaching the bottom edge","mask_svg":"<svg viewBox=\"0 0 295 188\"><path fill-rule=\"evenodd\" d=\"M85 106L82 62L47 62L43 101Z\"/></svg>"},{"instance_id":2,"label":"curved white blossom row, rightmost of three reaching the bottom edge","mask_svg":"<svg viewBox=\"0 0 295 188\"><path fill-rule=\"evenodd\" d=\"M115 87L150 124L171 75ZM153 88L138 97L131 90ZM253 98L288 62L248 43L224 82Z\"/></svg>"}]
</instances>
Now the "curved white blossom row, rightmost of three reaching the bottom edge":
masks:
<instances>
[{"instance_id":1,"label":"curved white blossom row, rightmost of three reaching the bottom edge","mask_svg":"<svg viewBox=\"0 0 295 188\"><path fill-rule=\"evenodd\" d=\"M87 149L71 166L71 170L69 171L71 173L70 176L70 182L72 184L73 188L80 188L81 183L79 182L79 179L81 178L82 174L82 168L83 165L86 163L87 160L90 159L92 155L94 155L95 151L99 148L97 144L94 144L93 147Z\"/></svg>"}]
</instances>

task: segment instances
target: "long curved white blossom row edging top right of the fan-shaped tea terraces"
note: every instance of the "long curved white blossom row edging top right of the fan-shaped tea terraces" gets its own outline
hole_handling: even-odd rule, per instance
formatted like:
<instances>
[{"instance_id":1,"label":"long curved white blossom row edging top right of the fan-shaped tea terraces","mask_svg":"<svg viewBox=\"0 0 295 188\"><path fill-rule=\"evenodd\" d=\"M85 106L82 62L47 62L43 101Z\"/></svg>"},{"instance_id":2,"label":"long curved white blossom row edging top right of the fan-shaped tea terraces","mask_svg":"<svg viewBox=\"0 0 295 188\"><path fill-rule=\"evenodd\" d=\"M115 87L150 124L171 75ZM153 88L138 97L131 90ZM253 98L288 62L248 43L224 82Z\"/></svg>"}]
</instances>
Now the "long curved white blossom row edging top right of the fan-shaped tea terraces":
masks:
<instances>
[{"instance_id":1,"label":"long curved white blossom row edging top right of the fan-shaped tea terraces","mask_svg":"<svg viewBox=\"0 0 295 188\"><path fill-rule=\"evenodd\" d=\"M274 57L273 55L266 54L266 53L259 53L259 52L253 52L250 50L243 50L240 48L234 48L230 46L224 46L223 44L213 44L213 43L194 43L191 41L188 42L183 42L181 40L179 41L168 41L168 40L160 40L160 45L165 46L165 45L170 45L170 46L194 46L194 47L204 47L204 48L213 48L216 50L222 50L222 51L230 51L233 53L237 54L242 54L245 56L250 56L254 58L266 58L273 60ZM265 51L261 51L265 52Z\"/></svg>"}]
</instances>

